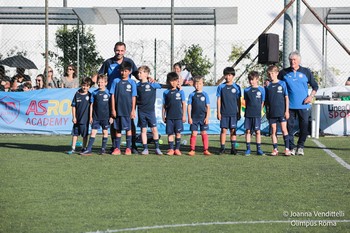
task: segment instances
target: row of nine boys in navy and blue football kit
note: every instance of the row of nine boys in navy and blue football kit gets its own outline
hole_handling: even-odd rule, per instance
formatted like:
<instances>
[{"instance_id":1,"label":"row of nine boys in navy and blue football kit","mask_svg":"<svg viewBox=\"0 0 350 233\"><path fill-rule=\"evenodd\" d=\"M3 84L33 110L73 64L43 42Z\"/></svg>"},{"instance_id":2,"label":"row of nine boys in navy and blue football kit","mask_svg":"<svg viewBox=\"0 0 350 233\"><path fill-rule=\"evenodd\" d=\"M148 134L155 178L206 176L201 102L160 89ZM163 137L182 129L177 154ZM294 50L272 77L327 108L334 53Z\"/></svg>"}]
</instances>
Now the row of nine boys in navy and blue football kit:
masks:
<instances>
[{"instance_id":1,"label":"row of nine boys in navy and blue football kit","mask_svg":"<svg viewBox=\"0 0 350 233\"><path fill-rule=\"evenodd\" d=\"M131 154L131 119L136 116L136 104L138 106L138 126L141 127L141 137L144 146L142 154L148 154L147 145L147 126L152 129L153 139L156 147L156 154L161 155L159 149L159 135L156 127L155 118L155 96L156 89L161 88L158 83L149 83L147 78L149 76L149 68L142 66L139 68L138 84L129 79L131 73L131 65L128 62L122 63L121 75L122 79L113 81L111 92L109 93L106 86L106 77L99 76L97 84L99 88L91 94L88 92L89 80L85 79L82 82L82 88L76 93L72 101L73 113L73 140L72 151L75 150L75 142L79 135L83 136L83 148L87 143L87 131L89 123L92 124L92 132L88 146L82 155L90 155L92 145L95 140L97 130L102 127L103 139L101 154L106 153L105 148L108 140L108 128L111 122L116 131L116 140L113 142L115 148L112 154L120 154L121 131L126 131L126 150L125 154ZM233 79L235 71L232 67L227 67L223 71L226 82L219 85L217 89L217 106L218 116L220 120L220 154L225 153L225 142L227 129L230 130L231 139L231 154L237 154L236 145L236 126L240 119L241 104L240 96L241 89L239 85L234 83ZM274 150L272 155L278 155L276 124L281 123L283 137L285 141L285 155L290 155L288 145L288 132L286 129L286 119L288 118L288 94L285 83L277 79L278 68L271 66L268 68L268 75L271 79L271 84L267 87L267 106L271 113L270 124L272 129L272 141ZM178 88L178 75L171 72L167 75L168 90L163 93L163 121L166 123L166 133L168 135L169 150L168 155L181 155L181 132L183 130L183 123L186 121L186 103L183 90ZM258 86L259 75L257 72L251 72L248 75L250 87L244 90L244 99L246 101L245 111L245 128L246 128L246 144L247 150L245 155L250 155L250 141L251 133L256 133L257 154L263 155L261 150L261 109L265 101L265 90ZM210 155L208 151L209 142L206 131L209 129L209 97L207 93L203 92L203 78L196 77L194 79L195 91L190 94L188 100L188 121L190 130L192 131L190 139L190 156L195 155L195 144L198 128L201 131L202 141L204 146L204 155ZM137 101L136 101L137 96ZM84 98L85 97L85 103ZM109 99L111 99L111 114L109 114ZM137 102L137 103L136 103ZM282 105L281 105L282 104ZM86 106L90 106L87 109ZM81 111L85 109L85 111ZM83 112L90 112L87 114L79 114ZM85 117L82 117L84 115ZM111 117L109 117L111 116ZM87 120L88 119L88 120ZM174 139L175 135L175 139ZM175 142L175 145L174 145Z\"/></svg>"}]
</instances>

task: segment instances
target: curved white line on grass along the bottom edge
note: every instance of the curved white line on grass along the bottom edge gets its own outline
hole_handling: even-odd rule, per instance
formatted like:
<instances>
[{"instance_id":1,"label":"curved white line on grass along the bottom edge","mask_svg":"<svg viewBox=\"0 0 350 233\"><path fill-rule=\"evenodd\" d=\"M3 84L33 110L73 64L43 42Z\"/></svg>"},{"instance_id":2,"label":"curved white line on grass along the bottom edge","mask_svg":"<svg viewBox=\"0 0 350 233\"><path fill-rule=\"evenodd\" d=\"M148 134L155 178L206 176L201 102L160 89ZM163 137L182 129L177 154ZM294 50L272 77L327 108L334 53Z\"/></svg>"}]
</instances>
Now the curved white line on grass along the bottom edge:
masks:
<instances>
[{"instance_id":1,"label":"curved white line on grass along the bottom edge","mask_svg":"<svg viewBox=\"0 0 350 233\"><path fill-rule=\"evenodd\" d=\"M241 222L202 222L202 223L188 223L188 224L172 224L172 225L156 225L156 226L145 226L145 227L133 227L123 228L116 230L106 231L93 231L87 233L115 233L125 231L144 231L153 229L165 229L165 228L176 228L176 227L197 227L197 226L212 226L212 225L238 225L238 224L271 224L271 223L290 223L292 222L327 222L327 223L350 223L350 220L262 220L262 221L241 221Z\"/></svg>"}]
</instances>

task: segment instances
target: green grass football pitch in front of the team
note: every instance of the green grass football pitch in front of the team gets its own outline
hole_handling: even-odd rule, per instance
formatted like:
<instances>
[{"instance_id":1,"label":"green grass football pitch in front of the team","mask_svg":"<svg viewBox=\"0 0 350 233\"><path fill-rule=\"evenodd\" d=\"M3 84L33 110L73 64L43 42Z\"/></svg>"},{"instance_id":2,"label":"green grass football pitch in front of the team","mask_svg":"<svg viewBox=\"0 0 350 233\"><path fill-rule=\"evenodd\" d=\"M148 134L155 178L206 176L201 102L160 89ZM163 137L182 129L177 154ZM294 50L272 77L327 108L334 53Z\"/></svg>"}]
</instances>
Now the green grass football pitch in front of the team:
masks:
<instances>
[{"instance_id":1,"label":"green grass football pitch in front of the team","mask_svg":"<svg viewBox=\"0 0 350 233\"><path fill-rule=\"evenodd\" d=\"M64 153L70 140L1 135L0 232L350 231L349 221L304 221L350 220L350 171L310 138L305 156L293 157L242 156L244 137L240 155L210 157L81 157ZM349 138L319 141L350 162ZM212 152L218 145L218 136L210 136ZM271 151L270 138L263 138L263 149ZM290 216L298 213L311 216Z\"/></svg>"}]
</instances>

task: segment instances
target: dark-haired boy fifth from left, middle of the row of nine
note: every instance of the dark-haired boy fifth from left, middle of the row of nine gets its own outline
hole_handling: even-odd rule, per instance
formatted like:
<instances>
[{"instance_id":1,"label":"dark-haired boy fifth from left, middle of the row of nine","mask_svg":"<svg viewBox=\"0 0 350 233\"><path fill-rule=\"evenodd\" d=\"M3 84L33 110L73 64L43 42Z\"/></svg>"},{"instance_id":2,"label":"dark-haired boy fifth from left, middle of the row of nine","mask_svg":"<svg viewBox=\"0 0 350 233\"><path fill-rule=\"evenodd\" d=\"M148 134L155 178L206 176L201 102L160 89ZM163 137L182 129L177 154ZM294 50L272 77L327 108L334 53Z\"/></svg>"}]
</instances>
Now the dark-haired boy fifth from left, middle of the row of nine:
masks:
<instances>
[{"instance_id":1,"label":"dark-haired boy fifth from left, middle of the row of nine","mask_svg":"<svg viewBox=\"0 0 350 233\"><path fill-rule=\"evenodd\" d=\"M168 89L163 93L163 121L166 123L165 131L168 135L169 150L167 155L181 155L181 132L186 122L185 93L179 87L179 76L175 72L167 74ZM175 134L175 150L174 150Z\"/></svg>"}]
</instances>

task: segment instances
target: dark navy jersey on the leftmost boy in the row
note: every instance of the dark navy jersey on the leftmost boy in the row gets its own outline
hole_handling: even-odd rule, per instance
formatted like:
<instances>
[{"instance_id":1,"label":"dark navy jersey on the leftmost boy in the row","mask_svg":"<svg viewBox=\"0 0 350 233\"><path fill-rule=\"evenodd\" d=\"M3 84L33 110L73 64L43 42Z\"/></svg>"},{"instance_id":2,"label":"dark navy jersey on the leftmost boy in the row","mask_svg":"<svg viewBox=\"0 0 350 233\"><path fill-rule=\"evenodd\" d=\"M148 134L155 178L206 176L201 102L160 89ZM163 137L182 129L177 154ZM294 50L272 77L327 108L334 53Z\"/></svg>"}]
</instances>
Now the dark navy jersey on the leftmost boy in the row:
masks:
<instances>
[{"instance_id":1,"label":"dark navy jersey on the leftmost boy in the row","mask_svg":"<svg viewBox=\"0 0 350 233\"><path fill-rule=\"evenodd\" d=\"M75 107L75 116L77 118L77 124L88 124L90 118L90 99L91 93L81 93L81 89L78 90L72 100L72 107Z\"/></svg>"}]
</instances>

